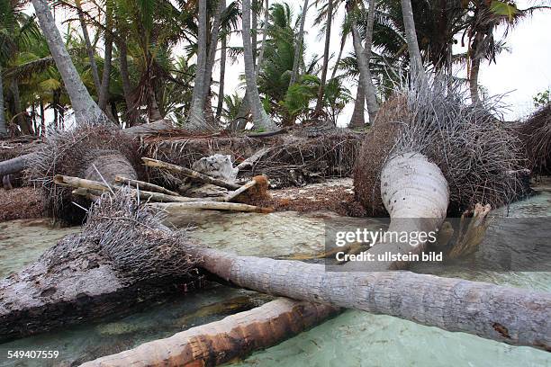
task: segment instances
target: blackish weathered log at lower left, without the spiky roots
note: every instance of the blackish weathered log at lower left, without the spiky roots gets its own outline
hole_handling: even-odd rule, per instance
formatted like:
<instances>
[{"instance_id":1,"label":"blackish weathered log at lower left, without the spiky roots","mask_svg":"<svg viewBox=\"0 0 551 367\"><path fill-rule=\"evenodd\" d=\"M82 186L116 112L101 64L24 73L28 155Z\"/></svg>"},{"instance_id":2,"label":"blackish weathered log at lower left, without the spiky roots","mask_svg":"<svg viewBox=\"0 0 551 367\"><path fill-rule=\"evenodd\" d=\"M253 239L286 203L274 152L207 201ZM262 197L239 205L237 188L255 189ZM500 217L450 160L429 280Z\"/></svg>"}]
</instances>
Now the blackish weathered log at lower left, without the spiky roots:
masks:
<instances>
[{"instance_id":1,"label":"blackish weathered log at lower left, without the spiky roots","mask_svg":"<svg viewBox=\"0 0 551 367\"><path fill-rule=\"evenodd\" d=\"M130 245L130 244L129 244ZM34 264L0 280L0 343L122 317L202 282L131 282L89 238L65 237Z\"/></svg>"}]
</instances>

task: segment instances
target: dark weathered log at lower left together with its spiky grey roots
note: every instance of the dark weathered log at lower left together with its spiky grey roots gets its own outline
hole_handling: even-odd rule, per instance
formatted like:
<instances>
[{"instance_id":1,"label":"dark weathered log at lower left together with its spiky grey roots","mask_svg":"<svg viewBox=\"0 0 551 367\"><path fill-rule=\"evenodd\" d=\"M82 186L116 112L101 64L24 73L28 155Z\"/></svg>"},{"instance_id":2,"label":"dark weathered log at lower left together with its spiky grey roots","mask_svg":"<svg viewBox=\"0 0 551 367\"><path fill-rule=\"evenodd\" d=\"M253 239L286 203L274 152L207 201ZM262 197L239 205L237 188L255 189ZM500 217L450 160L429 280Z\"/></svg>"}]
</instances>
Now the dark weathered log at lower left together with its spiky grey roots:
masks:
<instances>
[{"instance_id":1,"label":"dark weathered log at lower left together with its spiky grey roots","mask_svg":"<svg viewBox=\"0 0 551 367\"><path fill-rule=\"evenodd\" d=\"M156 217L139 217L129 194L115 204L114 209L133 213L123 219L131 226L161 226ZM102 211L103 220L117 221L116 210ZM0 342L126 315L149 301L203 286L203 276L177 236L172 244L162 244L162 232L156 231L156 237L120 232L92 217L82 234L63 238L35 263L0 280ZM113 251L119 242L123 248Z\"/></svg>"}]
</instances>

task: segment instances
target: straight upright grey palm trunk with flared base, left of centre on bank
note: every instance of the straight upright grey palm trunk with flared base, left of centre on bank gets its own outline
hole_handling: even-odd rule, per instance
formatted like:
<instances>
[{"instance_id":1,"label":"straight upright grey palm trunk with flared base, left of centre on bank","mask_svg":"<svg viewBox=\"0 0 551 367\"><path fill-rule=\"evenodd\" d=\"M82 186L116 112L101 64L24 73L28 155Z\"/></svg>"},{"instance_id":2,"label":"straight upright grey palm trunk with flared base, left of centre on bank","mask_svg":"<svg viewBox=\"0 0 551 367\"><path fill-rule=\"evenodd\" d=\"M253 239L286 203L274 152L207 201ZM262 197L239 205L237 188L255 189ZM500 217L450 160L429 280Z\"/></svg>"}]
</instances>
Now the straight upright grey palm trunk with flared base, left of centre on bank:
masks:
<instances>
[{"instance_id":1,"label":"straight upright grey palm trunk with flared base, left of centre on bank","mask_svg":"<svg viewBox=\"0 0 551 367\"><path fill-rule=\"evenodd\" d=\"M186 129L188 130L208 130L208 125L204 119L204 98L205 90L205 68L207 58L207 37L206 37L206 1L199 1L199 18L198 18L198 49L197 49L197 69L195 72L195 85L192 95L192 103L189 114L187 116Z\"/></svg>"}]
</instances>

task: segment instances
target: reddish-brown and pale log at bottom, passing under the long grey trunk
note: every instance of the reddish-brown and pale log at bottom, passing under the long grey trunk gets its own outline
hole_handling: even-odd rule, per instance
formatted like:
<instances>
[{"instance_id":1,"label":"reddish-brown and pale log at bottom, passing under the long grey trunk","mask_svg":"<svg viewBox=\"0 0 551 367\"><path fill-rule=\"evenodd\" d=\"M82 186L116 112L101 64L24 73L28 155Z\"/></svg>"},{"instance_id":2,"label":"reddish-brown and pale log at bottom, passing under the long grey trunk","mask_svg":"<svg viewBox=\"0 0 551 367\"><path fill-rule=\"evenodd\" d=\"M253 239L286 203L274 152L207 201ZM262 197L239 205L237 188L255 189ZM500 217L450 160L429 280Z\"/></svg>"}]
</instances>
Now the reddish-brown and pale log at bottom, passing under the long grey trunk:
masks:
<instances>
[{"instance_id":1,"label":"reddish-brown and pale log at bottom, passing under the long grey trunk","mask_svg":"<svg viewBox=\"0 0 551 367\"><path fill-rule=\"evenodd\" d=\"M221 321L192 327L82 366L214 366L276 345L337 313L311 302L278 299Z\"/></svg>"}]
</instances>

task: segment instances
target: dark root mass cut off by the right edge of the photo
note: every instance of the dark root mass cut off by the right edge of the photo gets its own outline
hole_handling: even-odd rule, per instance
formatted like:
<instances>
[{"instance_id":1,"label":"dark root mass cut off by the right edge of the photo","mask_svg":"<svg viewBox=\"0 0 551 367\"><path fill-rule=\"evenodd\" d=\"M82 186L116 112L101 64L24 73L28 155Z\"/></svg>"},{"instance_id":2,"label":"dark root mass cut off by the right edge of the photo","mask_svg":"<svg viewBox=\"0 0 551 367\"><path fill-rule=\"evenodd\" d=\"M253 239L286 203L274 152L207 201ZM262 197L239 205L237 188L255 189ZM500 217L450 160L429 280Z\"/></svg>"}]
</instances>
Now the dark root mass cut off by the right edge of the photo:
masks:
<instances>
[{"instance_id":1,"label":"dark root mass cut off by the right edge of the photo","mask_svg":"<svg viewBox=\"0 0 551 367\"><path fill-rule=\"evenodd\" d=\"M551 104L547 104L519 127L526 148L528 169L537 175L551 174Z\"/></svg>"}]
</instances>

